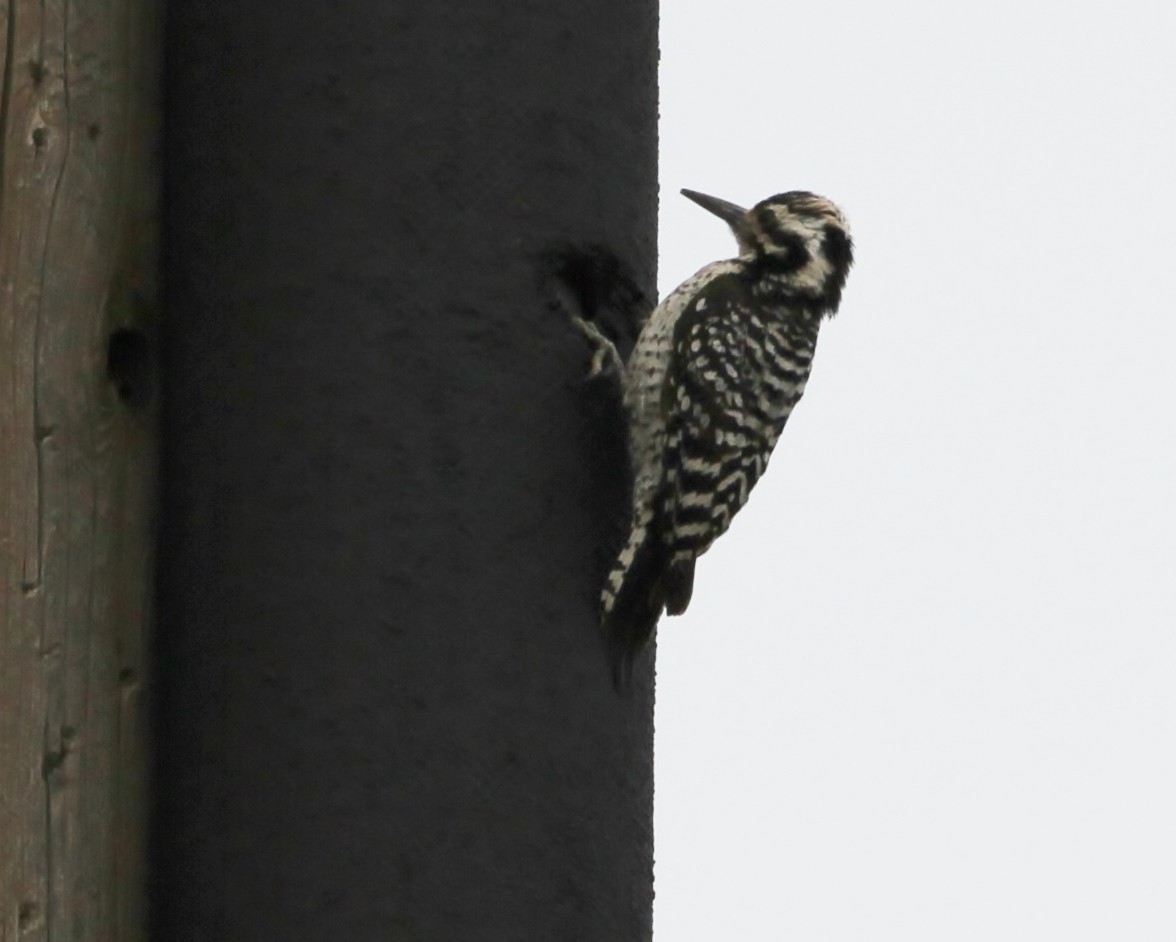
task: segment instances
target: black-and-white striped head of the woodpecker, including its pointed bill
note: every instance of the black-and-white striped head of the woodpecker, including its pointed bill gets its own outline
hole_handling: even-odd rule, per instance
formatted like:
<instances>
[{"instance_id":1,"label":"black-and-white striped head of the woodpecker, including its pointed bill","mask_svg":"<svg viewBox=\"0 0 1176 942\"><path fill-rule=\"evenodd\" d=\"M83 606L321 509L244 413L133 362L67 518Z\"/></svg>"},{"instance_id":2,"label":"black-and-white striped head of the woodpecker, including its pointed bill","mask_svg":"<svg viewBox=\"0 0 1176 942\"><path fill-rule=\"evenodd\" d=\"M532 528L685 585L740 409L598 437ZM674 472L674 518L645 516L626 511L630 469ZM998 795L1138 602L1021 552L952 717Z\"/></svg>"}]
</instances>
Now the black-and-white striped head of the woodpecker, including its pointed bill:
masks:
<instances>
[{"instance_id":1,"label":"black-and-white striped head of the woodpecker, including its pointed bill","mask_svg":"<svg viewBox=\"0 0 1176 942\"><path fill-rule=\"evenodd\" d=\"M740 259L767 289L806 296L826 313L837 309L854 263L854 240L846 216L829 200L794 189L744 209L693 189L682 195L730 226Z\"/></svg>"}]
</instances>

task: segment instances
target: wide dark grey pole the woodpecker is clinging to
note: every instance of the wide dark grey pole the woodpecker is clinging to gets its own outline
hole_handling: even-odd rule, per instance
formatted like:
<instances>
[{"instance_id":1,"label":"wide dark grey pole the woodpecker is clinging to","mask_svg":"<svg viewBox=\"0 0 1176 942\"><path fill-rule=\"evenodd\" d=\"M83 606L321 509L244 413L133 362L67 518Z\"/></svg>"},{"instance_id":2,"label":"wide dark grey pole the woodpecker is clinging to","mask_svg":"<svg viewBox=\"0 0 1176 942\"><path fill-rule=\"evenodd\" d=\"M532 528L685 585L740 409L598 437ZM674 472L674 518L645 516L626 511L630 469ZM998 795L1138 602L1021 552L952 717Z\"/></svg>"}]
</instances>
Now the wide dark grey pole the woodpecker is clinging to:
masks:
<instances>
[{"instance_id":1,"label":"wide dark grey pole the woodpecker is clinging to","mask_svg":"<svg viewBox=\"0 0 1176 942\"><path fill-rule=\"evenodd\" d=\"M653 294L655 4L179 2L167 115L155 937L648 940L549 269Z\"/></svg>"}]
</instances>

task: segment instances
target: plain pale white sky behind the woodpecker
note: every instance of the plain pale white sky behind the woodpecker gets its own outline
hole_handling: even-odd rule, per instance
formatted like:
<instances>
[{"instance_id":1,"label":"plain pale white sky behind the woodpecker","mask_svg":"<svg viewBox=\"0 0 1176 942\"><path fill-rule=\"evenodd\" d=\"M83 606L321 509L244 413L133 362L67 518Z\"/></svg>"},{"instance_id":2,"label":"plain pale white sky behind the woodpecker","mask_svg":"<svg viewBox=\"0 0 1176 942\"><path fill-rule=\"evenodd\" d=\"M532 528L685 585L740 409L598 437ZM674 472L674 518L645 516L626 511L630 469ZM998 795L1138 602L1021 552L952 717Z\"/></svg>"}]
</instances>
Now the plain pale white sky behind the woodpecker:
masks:
<instances>
[{"instance_id":1,"label":"plain pale white sky behind the woodpecker","mask_svg":"<svg viewBox=\"0 0 1176 942\"><path fill-rule=\"evenodd\" d=\"M1176 4L662 4L688 186L857 265L662 621L661 942L1176 940Z\"/></svg>"}]
</instances>

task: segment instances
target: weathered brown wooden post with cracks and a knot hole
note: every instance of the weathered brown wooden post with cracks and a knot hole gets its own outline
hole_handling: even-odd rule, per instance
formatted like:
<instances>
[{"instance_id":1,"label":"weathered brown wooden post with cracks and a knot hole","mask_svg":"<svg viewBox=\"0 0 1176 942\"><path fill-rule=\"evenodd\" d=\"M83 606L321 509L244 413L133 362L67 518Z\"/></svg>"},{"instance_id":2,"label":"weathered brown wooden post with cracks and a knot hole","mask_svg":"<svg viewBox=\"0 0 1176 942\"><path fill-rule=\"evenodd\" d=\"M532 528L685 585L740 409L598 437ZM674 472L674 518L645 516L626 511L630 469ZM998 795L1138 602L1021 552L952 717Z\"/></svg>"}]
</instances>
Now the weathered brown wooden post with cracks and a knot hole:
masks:
<instances>
[{"instance_id":1,"label":"weathered brown wooden post with cracks and a knot hole","mask_svg":"<svg viewBox=\"0 0 1176 942\"><path fill-rule=\"evenodd\" d=\"M156 14L0 2L0 942L143 937Z\"/></svg>"}]
</instances>

